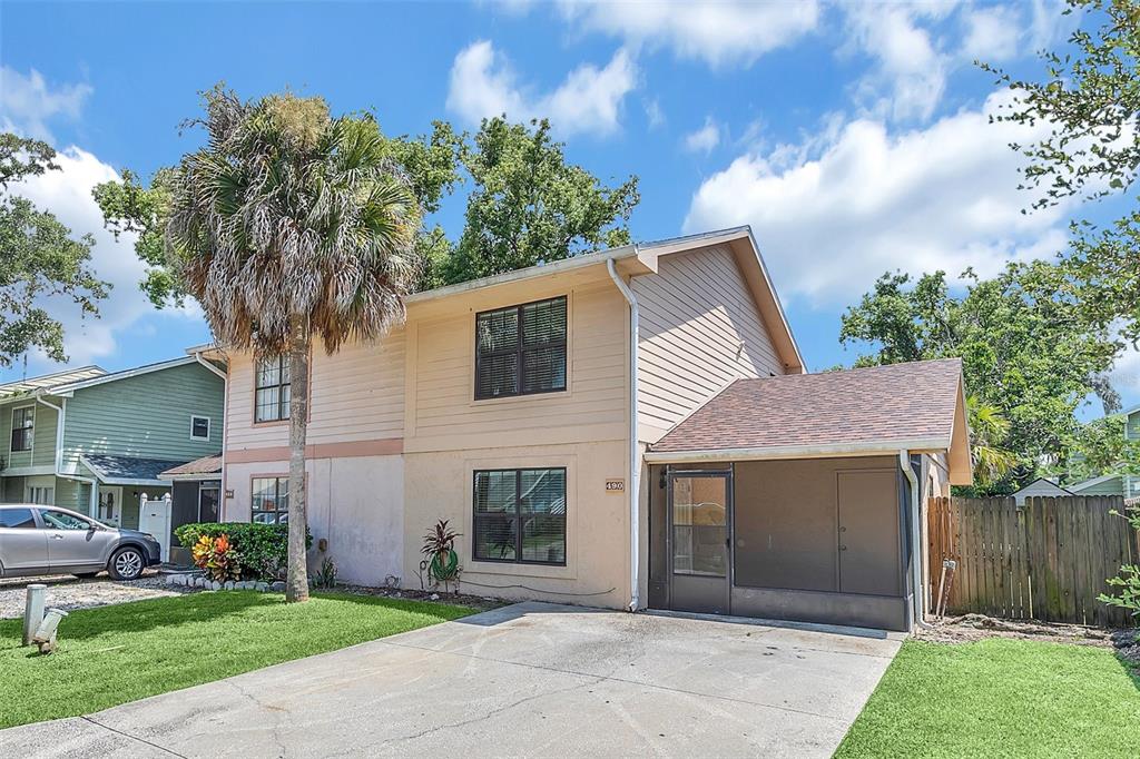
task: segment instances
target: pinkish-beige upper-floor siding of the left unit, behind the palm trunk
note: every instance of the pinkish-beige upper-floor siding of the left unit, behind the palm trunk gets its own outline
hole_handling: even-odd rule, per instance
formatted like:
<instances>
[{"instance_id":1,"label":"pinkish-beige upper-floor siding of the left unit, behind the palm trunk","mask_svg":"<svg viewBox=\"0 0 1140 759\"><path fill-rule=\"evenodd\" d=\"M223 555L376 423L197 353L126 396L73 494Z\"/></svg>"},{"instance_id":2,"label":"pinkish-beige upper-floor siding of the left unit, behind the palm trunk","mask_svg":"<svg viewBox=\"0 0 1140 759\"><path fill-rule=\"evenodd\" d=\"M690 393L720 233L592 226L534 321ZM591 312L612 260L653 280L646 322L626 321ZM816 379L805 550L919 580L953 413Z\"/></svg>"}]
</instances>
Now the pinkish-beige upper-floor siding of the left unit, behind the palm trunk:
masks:
<instances>
[{"instance_id":1,"label":"pinkish-beige upper-floor siding of the left unit, behind the palm trunk","mask_svg":"<svg viewBox=\"0 0 1140 759\"><path fill-rule=\"evenodd\" d=\"M327 356L314 349L310 444L398 439L404 434L404 329L378 344L352 344ZM229 369L227 450L288 444L287 423L253 423L253 358L235 354Z\"/></svg>"}]
</instances>

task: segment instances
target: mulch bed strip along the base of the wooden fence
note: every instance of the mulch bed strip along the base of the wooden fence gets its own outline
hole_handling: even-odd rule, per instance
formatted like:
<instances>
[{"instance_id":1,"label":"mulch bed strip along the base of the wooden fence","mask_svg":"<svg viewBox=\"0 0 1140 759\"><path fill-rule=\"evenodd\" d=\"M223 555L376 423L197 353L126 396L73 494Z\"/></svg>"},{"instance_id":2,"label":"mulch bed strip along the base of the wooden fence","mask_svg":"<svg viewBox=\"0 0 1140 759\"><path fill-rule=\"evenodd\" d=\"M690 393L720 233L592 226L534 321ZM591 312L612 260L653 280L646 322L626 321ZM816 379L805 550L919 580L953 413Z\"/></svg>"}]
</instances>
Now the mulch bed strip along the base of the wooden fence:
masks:
<instances>
[{"instance_id":1,"label":"mulch bed strip along the base of the wooden fence","mask_svg":"<svg viewBox=\"0 0 1140 759\"><path fill-rule=\"evenodd\" d=\"M914 637L934 643L972 643L985 638L1047 640L1078 646L1115 648L1117 655L1140 675L1140 630L1109 630L1082 625L1058 625L1035 620L994 619L985 614L963 614L919 629Z\"/></svg>"}]
</instances>

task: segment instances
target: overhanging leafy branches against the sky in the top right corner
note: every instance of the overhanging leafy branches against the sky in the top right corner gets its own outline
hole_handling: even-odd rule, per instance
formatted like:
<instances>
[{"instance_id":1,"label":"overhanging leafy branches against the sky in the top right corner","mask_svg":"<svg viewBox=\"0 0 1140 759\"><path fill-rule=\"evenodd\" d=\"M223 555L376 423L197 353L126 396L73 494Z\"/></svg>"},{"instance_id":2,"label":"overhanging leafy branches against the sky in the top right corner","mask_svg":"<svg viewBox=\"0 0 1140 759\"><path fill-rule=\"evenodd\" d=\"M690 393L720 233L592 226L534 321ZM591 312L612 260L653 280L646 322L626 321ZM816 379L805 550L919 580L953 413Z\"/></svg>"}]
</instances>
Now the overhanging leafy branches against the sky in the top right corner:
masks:
<instances>
[{"instance_id":1,"label":"overhanging leafy branches against the sky in the top right corner","mask_svg":"<svg viewBox=\"0 0 1140 759\"><path fill-rule=\"evenodd\" d=\"M983 65L1016 97L997 121L1052 126L1037 142L1012 146L1028 158L1024 187L1037 194L1035 209L1075 195L1127 195L1140 170L1140 2L1068 0L1065 13L1081 14L1082 23L1068 51L1042 52L1040 81ZM1133 207L1106 228L1078 222L1073 231L1062 259L1083 307L1102 324L1123 324L1126 338L1140 340L1140 211Z\"/></svg>"}]
</instances>

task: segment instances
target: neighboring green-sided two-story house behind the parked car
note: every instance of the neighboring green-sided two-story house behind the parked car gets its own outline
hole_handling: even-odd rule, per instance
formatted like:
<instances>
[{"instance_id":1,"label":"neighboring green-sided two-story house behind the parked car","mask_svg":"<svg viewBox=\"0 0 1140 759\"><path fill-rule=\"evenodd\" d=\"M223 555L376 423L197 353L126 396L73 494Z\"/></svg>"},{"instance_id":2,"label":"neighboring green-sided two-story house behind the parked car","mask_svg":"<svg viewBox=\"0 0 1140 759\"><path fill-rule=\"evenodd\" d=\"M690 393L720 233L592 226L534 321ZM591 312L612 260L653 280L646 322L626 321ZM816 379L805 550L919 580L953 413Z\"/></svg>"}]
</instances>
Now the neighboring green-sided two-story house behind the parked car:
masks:
<instances>
[{"instance_id":1,"label":"neighboring green-sided two-story house behind the parked car","mask_svg":"<svg viewBox=\"0 0 1140 759\"><path fill-rule=\"evenodd\" d=\"M225 373L199 356L0 385L0 501L54 504L127 528L165 470L222 448Z\"/></svg>"}]
</instances>

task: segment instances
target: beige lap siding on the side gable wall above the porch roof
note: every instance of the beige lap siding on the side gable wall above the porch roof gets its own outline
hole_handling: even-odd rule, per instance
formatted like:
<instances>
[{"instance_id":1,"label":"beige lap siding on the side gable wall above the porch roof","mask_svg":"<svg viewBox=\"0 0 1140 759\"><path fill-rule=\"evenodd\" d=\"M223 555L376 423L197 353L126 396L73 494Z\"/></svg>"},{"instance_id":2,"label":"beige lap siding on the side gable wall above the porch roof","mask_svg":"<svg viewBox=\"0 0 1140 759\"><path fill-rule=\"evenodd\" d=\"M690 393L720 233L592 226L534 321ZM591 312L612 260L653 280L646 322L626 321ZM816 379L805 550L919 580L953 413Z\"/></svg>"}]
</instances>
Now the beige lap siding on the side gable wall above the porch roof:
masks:
<instances>
[{"instance_id":1,"label":"beige lap siding on the side gable wall above the porch roof","mask_svg":"<svg viewBox=\"0 0 1140 759\"><path fill-rule=\"evenodd\" d=\"M636 277L640 436L657 441L738 377L783 374L772 338L732 251L662 256Z\"/></svg>"}]
</instances>

